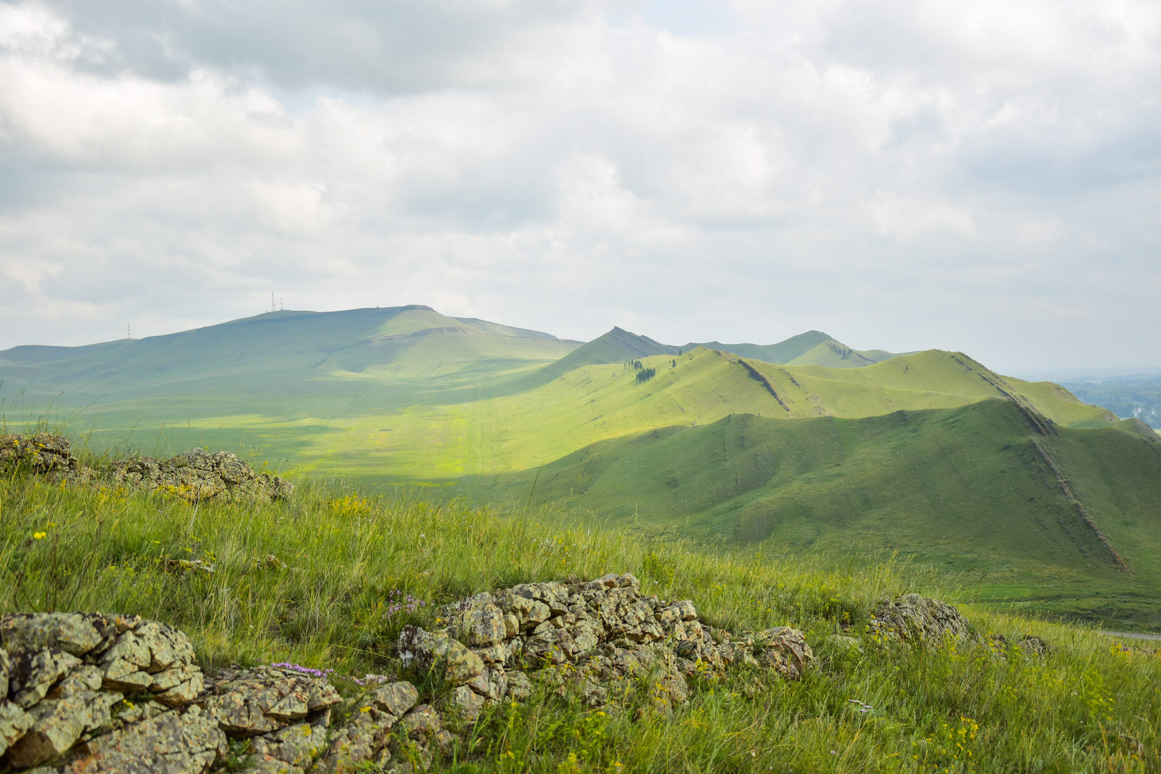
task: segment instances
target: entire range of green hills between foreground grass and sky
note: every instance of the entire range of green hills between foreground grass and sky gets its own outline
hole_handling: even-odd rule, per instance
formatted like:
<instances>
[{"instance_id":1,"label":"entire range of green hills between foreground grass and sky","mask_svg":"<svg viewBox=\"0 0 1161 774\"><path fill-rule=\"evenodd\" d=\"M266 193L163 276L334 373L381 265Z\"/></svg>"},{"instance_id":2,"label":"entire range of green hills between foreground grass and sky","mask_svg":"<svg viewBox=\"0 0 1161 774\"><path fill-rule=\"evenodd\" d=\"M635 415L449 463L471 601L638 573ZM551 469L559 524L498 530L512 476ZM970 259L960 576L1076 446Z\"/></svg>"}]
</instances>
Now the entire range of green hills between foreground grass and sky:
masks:
<instances>
[{"instance_id":1,"label":"entire range of green hills between foreground grass and sky","mask_svg":"<svg viewBox=\"0 0 1161 774\"><path fill-rule=\"evenodd\" d=\"M240 448L738 549L901 551L978 573L986 599L1161 621L1156 434L962 353L820 331L582 343L416 305L15 347L0 383L9 424L66 422L96 450Z\"/></svg>"}]
</instances>

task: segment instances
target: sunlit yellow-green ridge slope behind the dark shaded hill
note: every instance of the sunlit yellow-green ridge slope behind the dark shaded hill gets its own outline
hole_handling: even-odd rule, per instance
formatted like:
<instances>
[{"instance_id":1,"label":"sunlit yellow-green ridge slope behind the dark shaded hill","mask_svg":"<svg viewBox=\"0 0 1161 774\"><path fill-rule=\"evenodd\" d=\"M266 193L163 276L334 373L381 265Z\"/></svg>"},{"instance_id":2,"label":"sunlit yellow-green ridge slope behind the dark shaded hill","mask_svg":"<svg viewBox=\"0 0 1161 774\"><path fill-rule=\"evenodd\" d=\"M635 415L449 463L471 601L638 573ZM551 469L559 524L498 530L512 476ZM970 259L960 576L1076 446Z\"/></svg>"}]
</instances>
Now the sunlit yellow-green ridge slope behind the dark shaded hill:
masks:
<instances>
[{"instance_id":1,"label":"sunlit yellow-green ridge slope behind the dark shaded hill","mask_svg":"<svg viewBox=\"0 0 1161 774\"><path fill-rule=\"evenodd\" d=\"M598 441L671 425L693 427L731 413L793 420L865 418L956 408L989 398L1023 406L1030 418L1115 421L1063 391L1032 390L1029 396L1023 384L971 367L956 353L921 353L902 366L895 364L899 360L863 369L792 368L697 348L677 357L641 359L642 368L652 372L644 381L623 361L585 366L515 395L352 419L347 426L362 433L363 443L360 456L344 465L404 480L434 480L431 471L437 468L453 477L514 472ZM852 375L858 379L852 382ZM390 439L376 436L373 428L378 426L394 428ZM452 427L461 429L448 434ZM433 444L437 437L440 443Z\"/></svg>"}]
</instances>

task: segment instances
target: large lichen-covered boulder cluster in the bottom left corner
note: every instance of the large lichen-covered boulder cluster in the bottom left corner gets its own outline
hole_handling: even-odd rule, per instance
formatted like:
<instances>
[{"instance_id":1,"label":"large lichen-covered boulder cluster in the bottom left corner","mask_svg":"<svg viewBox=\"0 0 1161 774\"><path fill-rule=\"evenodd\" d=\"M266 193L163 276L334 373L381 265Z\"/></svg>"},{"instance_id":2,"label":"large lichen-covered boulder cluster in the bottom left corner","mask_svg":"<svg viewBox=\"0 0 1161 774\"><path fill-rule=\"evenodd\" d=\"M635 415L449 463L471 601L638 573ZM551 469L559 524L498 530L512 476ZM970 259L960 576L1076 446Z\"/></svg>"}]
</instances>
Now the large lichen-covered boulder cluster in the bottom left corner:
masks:
<instances>
[{"instance_id":1,"label":"large lichen-covered boulder cluster in the bottom left corner","mask_svg":"<svg viewBox=\"0 0 1161 774\"><path fill-rule=\"evenodd\" d=\"M0 699L0 771L36 766L70 752L86 762L67 771L149 771L101 762L120 760L124 750L146 748L153 751L151 765L160 771L166 757L185 752L208 765L216 752L207 751L224 745L216 726L214 733L200 730L209 728L196 721L200 715L187 722L186 715L194 710L178 709L202 692L204 681L189 639L172 627L137 616L15 614L0 619L0 641L5 653L0 663L7 661L7 680L0 680L0 687L7 682ZM134 701L127 700L130 695ZM120 712L127 708L137 712ZM131 719L164 714L176 715L129 728ZM199 758L192 747L179 751L175 738L204 743L205 748Z\"/></svg>"}]
</instances>

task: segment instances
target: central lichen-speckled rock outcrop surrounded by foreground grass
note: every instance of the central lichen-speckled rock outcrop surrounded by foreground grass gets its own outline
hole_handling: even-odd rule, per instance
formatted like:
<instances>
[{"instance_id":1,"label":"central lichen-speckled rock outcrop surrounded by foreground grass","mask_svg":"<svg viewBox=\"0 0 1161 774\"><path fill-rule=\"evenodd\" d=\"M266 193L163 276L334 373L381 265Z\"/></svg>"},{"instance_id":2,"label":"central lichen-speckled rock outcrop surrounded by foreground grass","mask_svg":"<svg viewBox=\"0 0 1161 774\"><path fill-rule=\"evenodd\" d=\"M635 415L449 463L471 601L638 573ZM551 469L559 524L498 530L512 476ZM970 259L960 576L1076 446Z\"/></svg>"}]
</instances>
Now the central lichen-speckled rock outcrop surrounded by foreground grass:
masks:
<instances>
[{"instance_id":1,"label":"central lichen-speckled rock outcrop surrounded by foreground grass","mask_svg":"<svg viewBox=\"0 0 1161 774\"><path fill-rule=\"evenodd\" d=\"M651 701L669 709L686 701L695 673L748 664L794 679L814 660L796 629L714 629L693 602L644 595L628 573L477 594L442 608L437 622L445 625L435 631L405 628L396 650L447 686L446 704L469 721L489 703L521 699L528 673L542 670L561 690L613 710L627 678L651 674Z\"/></svg>"}]
</instances>

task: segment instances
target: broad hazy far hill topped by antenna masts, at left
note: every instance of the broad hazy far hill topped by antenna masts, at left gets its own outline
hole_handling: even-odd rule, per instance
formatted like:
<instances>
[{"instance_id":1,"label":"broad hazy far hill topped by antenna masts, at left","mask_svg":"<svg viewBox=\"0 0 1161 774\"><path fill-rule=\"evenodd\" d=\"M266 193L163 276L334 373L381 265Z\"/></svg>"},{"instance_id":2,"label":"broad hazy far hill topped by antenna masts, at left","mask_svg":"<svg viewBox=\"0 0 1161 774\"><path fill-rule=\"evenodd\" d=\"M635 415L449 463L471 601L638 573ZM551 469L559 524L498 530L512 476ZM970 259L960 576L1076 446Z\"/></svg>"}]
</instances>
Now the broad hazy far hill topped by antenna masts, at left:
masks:
<instances>
[{"instance_id":1,"label":"broad hazy far hill topped by antenna masts, at left","mask_svg":"<svg viewBox=\"0 0 1161 774\"><path fill-rule=\"evenodd\" d=\"M33 395L65 391L201 397L282 391L368 371L390 381L446 389L558 360L577 346L546 333L446 317L426 306L344 312L269 312L146 339L88 347L15 347L0 353L5 379ZM245 393L241 396L245 397Z\"/></svg>"}]
</instances>

